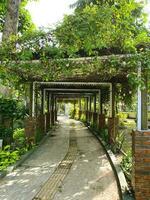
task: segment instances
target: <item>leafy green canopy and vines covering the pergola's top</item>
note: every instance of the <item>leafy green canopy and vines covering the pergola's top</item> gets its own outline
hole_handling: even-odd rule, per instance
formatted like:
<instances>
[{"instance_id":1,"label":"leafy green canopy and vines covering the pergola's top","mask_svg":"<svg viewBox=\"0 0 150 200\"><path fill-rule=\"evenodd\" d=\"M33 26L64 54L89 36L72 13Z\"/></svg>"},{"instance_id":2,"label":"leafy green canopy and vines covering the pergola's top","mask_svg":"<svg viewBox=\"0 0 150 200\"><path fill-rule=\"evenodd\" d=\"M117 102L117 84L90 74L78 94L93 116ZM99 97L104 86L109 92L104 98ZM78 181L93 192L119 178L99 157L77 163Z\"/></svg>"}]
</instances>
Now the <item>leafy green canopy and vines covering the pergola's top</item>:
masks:
<instances>
[{"instance_id":1,"label":"leafy green canopy and vines covering the pergola's top","mask_svg":"<svg viewBox=\"0 0 150 200\"><path fill-rule=\"evenodd\" d=\"M122 73L123 77L128 77L128 82L124 81L116 94L121 97L119 100L131 105L135 89L139 84L143 86L143 80L137 77L139 62L145 74L149 74L150 69L149 32L144 26L142 6L134 0L82 2L84 6L65 16L55 30L32 31L31 28L26 31L25 27L25 34L12 37L3 44L0 48L0 78L20 85L21 81L27 80L55 81L93 73L113 78ZM126 58L97 58L112 53L134 54ZM82 56L94 57L83 63L68 59ZM40 62L29 64L34 59ZM107 94L104 91L102 101L108 101Z\"/></svg>"}]
</instances>

